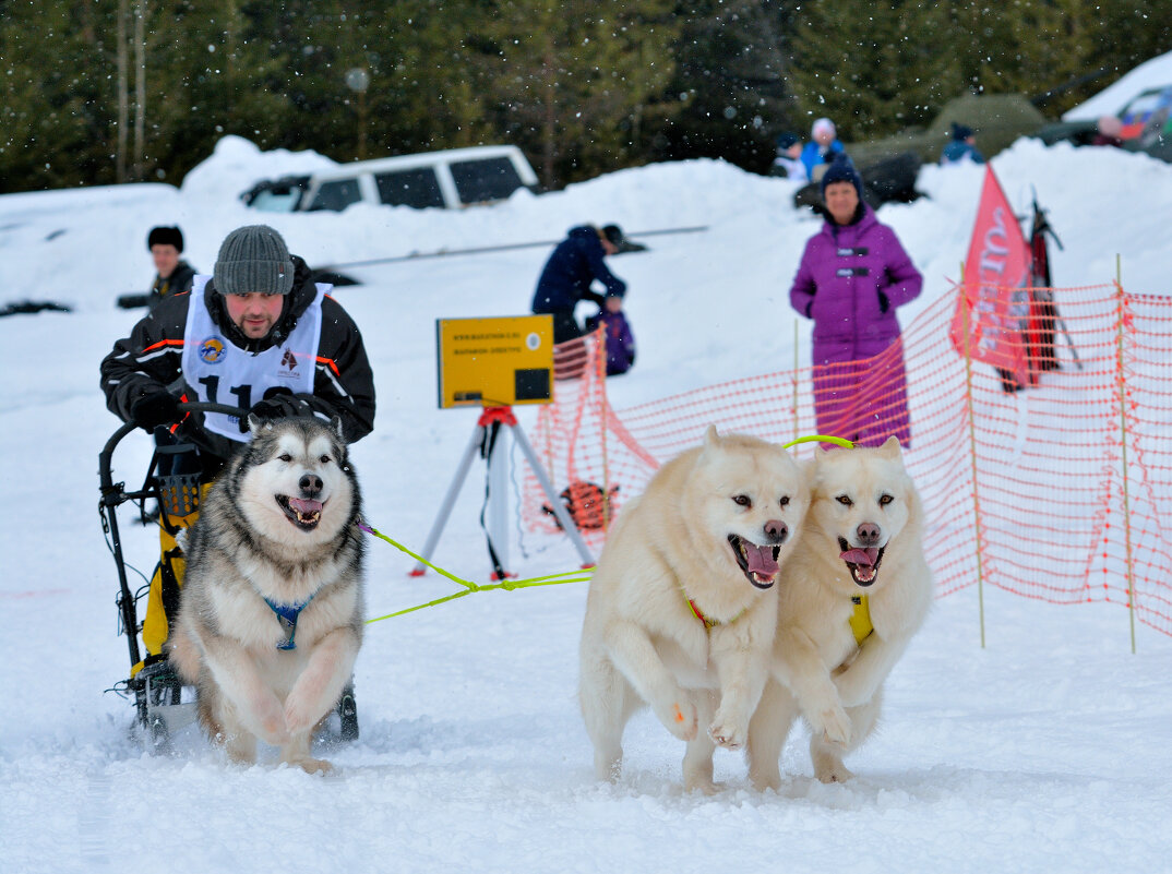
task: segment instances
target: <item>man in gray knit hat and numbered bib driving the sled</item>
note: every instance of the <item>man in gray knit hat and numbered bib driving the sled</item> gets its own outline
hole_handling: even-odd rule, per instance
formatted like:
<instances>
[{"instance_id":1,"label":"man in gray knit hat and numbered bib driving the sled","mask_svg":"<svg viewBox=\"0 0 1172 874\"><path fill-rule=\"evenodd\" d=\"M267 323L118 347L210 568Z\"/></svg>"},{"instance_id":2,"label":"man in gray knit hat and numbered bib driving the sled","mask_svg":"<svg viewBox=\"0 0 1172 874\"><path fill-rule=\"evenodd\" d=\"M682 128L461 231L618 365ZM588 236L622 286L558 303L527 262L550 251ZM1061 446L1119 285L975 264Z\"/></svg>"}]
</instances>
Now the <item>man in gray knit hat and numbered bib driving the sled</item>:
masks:
<instances>
[{"instance_id":1,"label":"man in gray knit hat and numbered bib driving the sled","mask_svg":"<svg viewBox=\"0 0 1172 874\"><path fill-rule=\"evenodd\" d=\"M339 416L348 442L374 428L374 375L357 327L266 225L220 246L212 276L168 295L102 361L107 407L146 431L191 439L209 482L260 418ZM239 416L184 414L206 401Z\"/></svg>"}]
</instances>

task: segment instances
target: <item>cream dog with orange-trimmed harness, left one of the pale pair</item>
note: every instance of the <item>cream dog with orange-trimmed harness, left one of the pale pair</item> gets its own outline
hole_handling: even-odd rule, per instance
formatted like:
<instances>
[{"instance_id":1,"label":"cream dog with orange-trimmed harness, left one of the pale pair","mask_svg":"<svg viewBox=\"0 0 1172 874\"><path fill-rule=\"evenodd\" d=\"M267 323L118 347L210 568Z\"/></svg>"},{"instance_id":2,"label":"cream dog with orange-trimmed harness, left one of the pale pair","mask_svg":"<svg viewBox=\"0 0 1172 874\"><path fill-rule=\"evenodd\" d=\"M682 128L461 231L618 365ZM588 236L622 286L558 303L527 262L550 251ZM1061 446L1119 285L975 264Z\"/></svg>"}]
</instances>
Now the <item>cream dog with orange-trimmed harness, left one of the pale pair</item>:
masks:
<instances>
[{"instance_id":1,"label":"cream dog with orange-trimmed harness, left one of the pale pair","mask_svg":"<svg viewBox=\"0 0 1172 874\"><path fill-rule=\"evenodd\" d=\"M715 746L744 744L765 684L774 580L808 504L783 449L709 428L702 446L663 465L620 513L591 581L580 647L599 779L618 779L624 728L646 703L687 742L684 786L714 791Z\"/></svg>"}]
</instances>

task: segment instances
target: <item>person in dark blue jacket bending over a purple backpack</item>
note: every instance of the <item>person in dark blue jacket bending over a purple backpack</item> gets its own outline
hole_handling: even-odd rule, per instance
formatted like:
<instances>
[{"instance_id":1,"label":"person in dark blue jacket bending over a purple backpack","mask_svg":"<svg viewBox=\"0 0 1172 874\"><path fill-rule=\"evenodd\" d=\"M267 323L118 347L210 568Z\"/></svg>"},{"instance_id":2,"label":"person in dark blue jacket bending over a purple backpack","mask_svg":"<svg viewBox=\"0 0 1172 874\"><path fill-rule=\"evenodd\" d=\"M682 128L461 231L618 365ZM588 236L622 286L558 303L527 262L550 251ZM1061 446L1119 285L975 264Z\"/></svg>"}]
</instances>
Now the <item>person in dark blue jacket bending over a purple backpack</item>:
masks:
<instances>
[{"instance_id":1,"label":"person in dark blue jacket bending over a purple backpack","mask_svg":"<svg viewBox=\"0 0 1172 874\"><path fill-rule=\"evenodd\" d=\"M532 306L534 314L553 316L554 343L582 335L582 328L574 319L578 301L593 301L612 313L622 309L627 284L611 273L602 258L628 251L628 246L631 244L618 225L602 228L580 225L570 228L566 239L554 247L537 280ZM591 288L595 280L602 284L604 294Z\"/></svg>"}]
</instances>

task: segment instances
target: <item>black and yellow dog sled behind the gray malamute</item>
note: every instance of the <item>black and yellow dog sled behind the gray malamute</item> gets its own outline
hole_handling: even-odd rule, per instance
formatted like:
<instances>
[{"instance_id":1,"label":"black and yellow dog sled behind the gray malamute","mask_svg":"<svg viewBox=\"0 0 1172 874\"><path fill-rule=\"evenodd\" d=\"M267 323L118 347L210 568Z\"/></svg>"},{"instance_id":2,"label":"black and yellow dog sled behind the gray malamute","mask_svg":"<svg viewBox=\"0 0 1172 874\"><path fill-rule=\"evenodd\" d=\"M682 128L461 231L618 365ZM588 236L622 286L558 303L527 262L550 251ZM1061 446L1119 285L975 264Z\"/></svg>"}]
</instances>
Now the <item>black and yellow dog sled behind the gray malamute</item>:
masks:
<instances>
[{"instance_id":1,"label":"black and yellow dog sled behind the gray malamute","mask_svg":"<svg viewBox=\"0 0 1172 874\"><path fill-rule=\"evenodd\" d=\"M211 403L182 403L186 412L224 412L240 415L234 407ZM113 691L132 699L135 705L134 733L148 751L168 751L176 732L196 721L195 689L183 683L166 657L166 639L179 606L184 558L176 542L179 531L198 515L199 499L210 483L200 482L198 464L191 464L195 446L191 443L156 445L143 484L128 491L124 482L114 482L113 459L118 444L138 425L128 423L118 428L98 455L101 500L98 512L107 546L114 557L118 574L118 633L125 635L130 657L129 676L113 687ZM157 511L149 510L151 501ZM128 506L129 505L129 506ZM127 519L161 530L162 549L154 552L157 561L150 579L130 566L123 552L118 528L120 508ZM141 586L132 586L128 571L142 576ZM319 729L318 737L326 743L356 740L359 737L357 708L353 681L346 687L335 709Z\"/></svg>"}]
</instances>

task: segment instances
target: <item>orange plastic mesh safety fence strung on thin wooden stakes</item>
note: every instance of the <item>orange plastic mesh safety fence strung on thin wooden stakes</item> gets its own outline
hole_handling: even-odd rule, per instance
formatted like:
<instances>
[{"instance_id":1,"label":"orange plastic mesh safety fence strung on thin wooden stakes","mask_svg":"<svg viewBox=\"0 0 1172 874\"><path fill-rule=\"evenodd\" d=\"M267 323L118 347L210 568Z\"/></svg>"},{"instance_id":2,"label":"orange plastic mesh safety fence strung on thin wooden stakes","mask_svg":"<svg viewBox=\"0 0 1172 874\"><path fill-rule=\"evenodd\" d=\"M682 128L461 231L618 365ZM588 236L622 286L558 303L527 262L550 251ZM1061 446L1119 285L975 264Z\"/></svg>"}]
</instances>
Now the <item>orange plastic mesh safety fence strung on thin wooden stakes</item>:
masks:
<instances>
[{"instance_id":1,"label":"orange plastic mesh safety fence strung on thin wooden stakes","mask_svg":"<svg viewBox=\"0 0 1172 874\"><path fill-rule=\"evenodd\" d=\"M1036 382L1022 390L1007 391L993 368L968 362L949 341L955 286L912 320L901 343L846 367L866 380L904 357L905 460L925 504L938 595L982 582L1054 603L1118 603L1172 635L1172 298L1118 285L1040 291L1052 294L1058 320L1052 351L1038 349L1036 329L1022 332ZM556 489L578 484L593 496L578 510L595 555L622 503L662 462L699 444L710 423L776 443L818 432L813 368L615 411L606 401L601 335L559 355L571 349L581 375L556 381L532 442ZM883 384L866 410L868 425L880 428L899 421L901 404ZM531 531L557 531L532 474L522 498Z\"/></svg>"}]
</instances>

